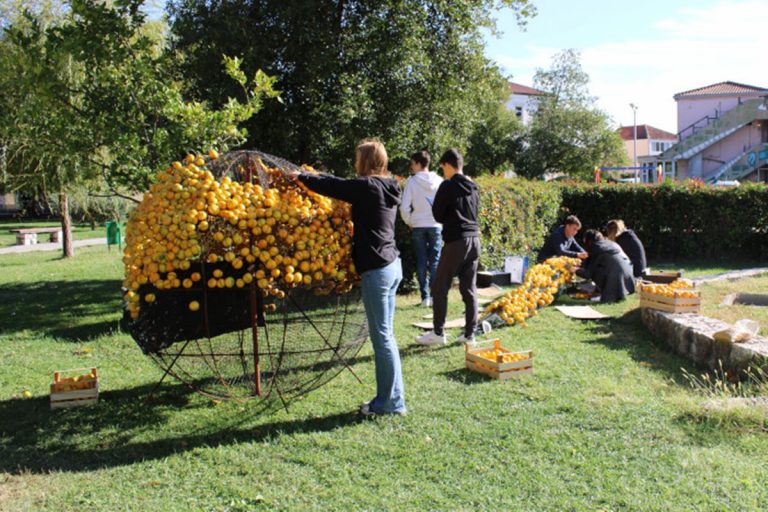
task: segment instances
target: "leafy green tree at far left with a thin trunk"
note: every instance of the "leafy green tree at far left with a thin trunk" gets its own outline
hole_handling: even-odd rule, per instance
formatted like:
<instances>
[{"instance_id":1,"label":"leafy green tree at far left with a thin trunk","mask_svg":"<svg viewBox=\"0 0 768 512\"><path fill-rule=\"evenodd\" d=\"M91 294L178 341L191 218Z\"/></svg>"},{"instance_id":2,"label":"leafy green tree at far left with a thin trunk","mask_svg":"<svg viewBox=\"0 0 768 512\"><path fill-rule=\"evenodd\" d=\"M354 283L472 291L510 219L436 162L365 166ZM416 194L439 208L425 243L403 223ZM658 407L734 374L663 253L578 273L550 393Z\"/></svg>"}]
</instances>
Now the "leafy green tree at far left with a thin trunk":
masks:
<instances>
[{"instance_id":1,"label":"leafy green tree at far left with a thin trunk","mask_svg":"<svg viewBox=\"0 0 768 512\"><path fill-rule=\"evenodd\" d=\"M74 0L48 26L28 14L5 31L0 140L9 184L58 194L67 256L73 189L146 190L158 168L186 152L240 144L238 125L277 96L272 78L259 71L249 81L239 59L224 58L243 100L233 95L218 108L188 101L177 56L151 37L141 5Z\"/></svg>"}]
</instances>

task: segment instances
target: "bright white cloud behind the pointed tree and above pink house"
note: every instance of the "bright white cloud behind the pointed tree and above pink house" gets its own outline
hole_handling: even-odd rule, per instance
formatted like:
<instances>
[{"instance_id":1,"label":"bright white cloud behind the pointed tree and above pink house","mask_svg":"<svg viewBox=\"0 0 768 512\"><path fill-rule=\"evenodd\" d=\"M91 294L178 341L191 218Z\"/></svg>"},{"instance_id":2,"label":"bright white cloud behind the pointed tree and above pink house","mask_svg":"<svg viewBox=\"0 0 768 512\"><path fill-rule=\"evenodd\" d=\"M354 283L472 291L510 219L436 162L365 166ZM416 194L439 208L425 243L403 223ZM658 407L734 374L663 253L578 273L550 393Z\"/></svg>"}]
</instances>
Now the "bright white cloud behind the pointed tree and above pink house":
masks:
<instances>
[{"instance_id":1,"label":"bright white cloud behind the pointed tree and above pink house","mask_svg":"<svg viewBox=\"0 0 768 512\"><path fill-rule=\"evenodd\" d=\"M675 93L732 80L768 87L768 2L721 2L707 8L671 9L655 31L580 48L591 78L590 91L617 124L637 122L677 131ZM548 67L561 48L525 47L524 57L496 60L530 83L537 67Z\"/></svg>"}]
</instances>

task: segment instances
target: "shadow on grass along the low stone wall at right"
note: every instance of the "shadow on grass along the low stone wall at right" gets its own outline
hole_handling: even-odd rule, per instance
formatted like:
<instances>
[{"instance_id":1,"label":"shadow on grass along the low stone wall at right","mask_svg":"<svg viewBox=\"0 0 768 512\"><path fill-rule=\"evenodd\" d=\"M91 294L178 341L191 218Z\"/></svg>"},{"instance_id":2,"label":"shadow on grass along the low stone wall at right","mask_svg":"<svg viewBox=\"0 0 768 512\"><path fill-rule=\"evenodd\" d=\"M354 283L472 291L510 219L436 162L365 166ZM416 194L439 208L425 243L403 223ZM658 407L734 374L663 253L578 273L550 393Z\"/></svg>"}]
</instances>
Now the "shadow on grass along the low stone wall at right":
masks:
<instances>
[{"instance_id":1,"label":"shadow on grass along the low stone wall at right","mask_svg":"<svg viewBox=\"0 0 768 512\"><path fill-rule=\"evenodd\" d=\"M643 367L663 374L680 386L688 385L681 368L692 371L693 364L673 354L662 346L643 325L640 309L633 309L624 315L593 322L591 331L595 338L586 343L599 343L612 350L621 350Z\"/></svg>"}]
</instances>

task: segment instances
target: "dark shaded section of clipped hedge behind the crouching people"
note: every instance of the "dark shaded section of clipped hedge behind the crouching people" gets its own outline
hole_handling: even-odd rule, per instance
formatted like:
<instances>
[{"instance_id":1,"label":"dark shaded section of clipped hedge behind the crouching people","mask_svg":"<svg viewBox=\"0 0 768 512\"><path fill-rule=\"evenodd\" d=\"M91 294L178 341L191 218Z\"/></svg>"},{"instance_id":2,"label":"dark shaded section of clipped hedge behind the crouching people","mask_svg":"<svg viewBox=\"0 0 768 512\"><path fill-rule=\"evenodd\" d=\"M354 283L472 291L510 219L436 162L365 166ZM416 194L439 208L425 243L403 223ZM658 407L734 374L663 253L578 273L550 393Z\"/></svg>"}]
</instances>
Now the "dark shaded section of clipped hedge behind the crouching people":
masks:
<instances>
[{"instance_id":1,"label":"dark shaded section of clipped hedge behind the crouching people","mask_svg":"<svg viewBox=\"0 0 768 512\"><path fill-rule=\"evenodd\" d=\"M651 259L765 259L768 187L695 184L561 186L561 217L585 227L623 219Z\"/></svg>"}]
</instances>

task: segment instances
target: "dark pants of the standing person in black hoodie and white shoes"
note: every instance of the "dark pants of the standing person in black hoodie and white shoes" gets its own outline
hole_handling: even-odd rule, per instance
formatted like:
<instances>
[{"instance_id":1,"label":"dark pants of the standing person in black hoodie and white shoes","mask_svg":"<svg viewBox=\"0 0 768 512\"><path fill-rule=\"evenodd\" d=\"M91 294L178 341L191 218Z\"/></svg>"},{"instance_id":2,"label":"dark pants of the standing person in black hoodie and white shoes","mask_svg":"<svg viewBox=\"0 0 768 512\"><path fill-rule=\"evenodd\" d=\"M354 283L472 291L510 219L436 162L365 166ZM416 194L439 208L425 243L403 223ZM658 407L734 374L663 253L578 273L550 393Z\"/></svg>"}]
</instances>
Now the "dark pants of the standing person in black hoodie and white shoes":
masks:
<instances>
[{"instance_id":1,"label":"dark pants of the standing person in black hoodie and white shoes","mask_svg":"<svg viewBox=\"0 0 768 512\"><path fill-rule=\"evenodd\" d=\"M480 260L480 239L462 238L443 244L440 261L432 280L432 325L436 334L443 334L448 311L448 290L453 277L459 276L459 291L464 300L464 334L471 336L477 327L477 264Z\"/></svg>"}]
</instances>

